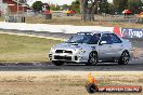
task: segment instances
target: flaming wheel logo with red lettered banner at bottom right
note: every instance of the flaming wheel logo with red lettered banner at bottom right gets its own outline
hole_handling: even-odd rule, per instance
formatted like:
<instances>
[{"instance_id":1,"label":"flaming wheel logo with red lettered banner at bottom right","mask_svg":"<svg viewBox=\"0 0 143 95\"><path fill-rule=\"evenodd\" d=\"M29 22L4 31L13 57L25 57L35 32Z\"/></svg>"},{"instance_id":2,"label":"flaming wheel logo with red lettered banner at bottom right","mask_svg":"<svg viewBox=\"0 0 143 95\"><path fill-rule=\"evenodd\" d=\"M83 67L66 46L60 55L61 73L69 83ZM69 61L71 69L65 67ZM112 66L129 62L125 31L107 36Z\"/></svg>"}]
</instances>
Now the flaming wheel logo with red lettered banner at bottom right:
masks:
<instances>
[{"instance_id":1,"label":"flaming wheel logo with red lettered banner at bottom right","mask_svg":"<svg viewBox=\"0 0 143 95\"><path fill-rule=\"evenodd\" d=\"M99 86L98 80L89 73L89 81L86 84L86 89L89 93L95 92L133 92L141 93L142 86L139 85L108 85L108 86Z\"/></svg>"}]
</instances>

